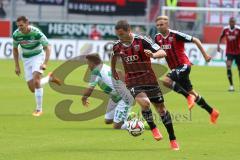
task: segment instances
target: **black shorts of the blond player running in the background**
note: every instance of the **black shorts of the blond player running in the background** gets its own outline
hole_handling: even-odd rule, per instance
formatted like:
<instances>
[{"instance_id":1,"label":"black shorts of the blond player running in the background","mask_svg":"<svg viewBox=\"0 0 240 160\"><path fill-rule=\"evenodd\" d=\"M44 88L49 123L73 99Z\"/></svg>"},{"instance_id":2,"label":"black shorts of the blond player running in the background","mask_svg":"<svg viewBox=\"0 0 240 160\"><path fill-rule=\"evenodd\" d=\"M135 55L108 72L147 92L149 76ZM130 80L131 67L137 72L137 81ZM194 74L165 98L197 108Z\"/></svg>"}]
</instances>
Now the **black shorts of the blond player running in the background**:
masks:
<instances>
[{"instance_id":1,"label":"black shorts of the blond player running in the background","mask_svg":"<svg viewBox=\"0 0 240 160\"><path fill-rule=\"evenodd\" d=\"M183 65L172 69L172 71L167 74L167 77L180 84L187 92L189 92L193 89L192 83L189 78L190 71L191 66Z\"/></svg>"}]
</instances>

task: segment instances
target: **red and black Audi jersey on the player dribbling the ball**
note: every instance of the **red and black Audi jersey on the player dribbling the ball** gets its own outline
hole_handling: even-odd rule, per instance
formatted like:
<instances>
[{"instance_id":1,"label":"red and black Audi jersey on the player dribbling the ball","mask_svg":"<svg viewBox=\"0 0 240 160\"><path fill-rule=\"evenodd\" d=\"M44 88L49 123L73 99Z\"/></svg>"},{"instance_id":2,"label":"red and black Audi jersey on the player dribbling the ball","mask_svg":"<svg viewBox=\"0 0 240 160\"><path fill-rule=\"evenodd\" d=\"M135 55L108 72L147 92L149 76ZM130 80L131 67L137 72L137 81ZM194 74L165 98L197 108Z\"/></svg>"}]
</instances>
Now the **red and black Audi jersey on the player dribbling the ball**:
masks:
<instances>
[{"instance_id":1,"label":"red and black Audi jersey on the player dribbling the ball","mask_svg":"<svg viewBox=\"0 0 240 160\"><path fill-rule=\"evenodd\" d=\"M157 78L151 67L151 59L144 49L157 52L160 47L151 39L133 34L133 41L125 45L117 41L113 46L113 56L120 56L125 70L125 82L128 87L156 85Z\"/></svg>"}]
</instances>

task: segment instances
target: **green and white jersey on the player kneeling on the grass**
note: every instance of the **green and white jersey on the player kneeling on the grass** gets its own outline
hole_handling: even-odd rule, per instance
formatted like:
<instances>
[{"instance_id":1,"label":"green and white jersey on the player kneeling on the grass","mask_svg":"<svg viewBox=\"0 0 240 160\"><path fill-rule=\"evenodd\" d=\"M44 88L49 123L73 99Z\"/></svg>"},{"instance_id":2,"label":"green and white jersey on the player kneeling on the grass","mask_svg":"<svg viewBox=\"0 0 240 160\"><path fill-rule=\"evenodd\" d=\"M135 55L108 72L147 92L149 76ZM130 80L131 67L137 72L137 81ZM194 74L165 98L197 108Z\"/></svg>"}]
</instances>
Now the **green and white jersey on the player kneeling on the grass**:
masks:
<instances>
[{"instance_id":1,"label":"green and white jersey on the player kneeling on the grass","mask_svg":"<svg viewBox=\"0 0 240 160\"><path fill-rule=\"evenodd\" d=\"M111 68L106 64L102 64L92 70L89 86L95 87L98 85L105 93L109 94L111 99L116 103L120 101L122 97L114 89L112 80Z\"/></svg>"}]
</instances>

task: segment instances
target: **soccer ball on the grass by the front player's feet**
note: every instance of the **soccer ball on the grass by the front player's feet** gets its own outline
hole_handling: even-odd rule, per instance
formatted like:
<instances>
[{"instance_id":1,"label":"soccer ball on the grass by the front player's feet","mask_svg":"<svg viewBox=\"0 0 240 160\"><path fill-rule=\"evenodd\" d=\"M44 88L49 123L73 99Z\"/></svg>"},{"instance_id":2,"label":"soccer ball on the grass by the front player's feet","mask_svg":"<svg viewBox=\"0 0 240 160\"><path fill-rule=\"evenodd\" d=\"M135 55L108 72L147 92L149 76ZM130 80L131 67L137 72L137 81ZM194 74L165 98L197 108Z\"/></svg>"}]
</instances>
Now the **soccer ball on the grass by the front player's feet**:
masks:
<instances>
[{"instance_id":1,"label":"soccer ball on the grass by the front player's feet","mask_svg":"<svg viewBox=\"0 0 240 160\"><path fill-rule=\"evenodd\" d=\"M144 132L144 124L138 119L128 121L127 130L134 137L140 136Z\"/></svg>"}]
</instances>

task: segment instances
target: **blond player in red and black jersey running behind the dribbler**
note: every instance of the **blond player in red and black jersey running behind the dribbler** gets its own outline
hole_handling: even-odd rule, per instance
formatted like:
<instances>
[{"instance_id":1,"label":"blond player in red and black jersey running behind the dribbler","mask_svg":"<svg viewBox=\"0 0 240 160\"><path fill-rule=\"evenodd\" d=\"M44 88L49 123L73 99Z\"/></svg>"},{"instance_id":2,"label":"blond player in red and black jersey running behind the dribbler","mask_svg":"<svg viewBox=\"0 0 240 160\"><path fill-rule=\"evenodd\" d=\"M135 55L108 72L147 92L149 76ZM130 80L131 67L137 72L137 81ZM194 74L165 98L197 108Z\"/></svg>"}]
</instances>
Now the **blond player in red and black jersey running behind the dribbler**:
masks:
<instances>
[{"instance_id":1,"label":"blond player in red and black jersey running behind the dribbler","mask_svg":"<svg viewBox=\"0 0 240 160\"><path fill-rule=\"evenodd\" d=\"M199 39L169 29L167 16L157 17L156 26L160 33L156 34L155 42L167 53L165 59L171 69L171 72L164 78L163 84L185 96L188 100L189 109L192 109L194 102L197 103L210 114L211 122L216 123L219 112L213 109L202 96L193 90L189 79L191 62L185 54L184 43L195 43L207 62L211 60L211 57L206 53Z\"/></svg>"}]
</instances>

